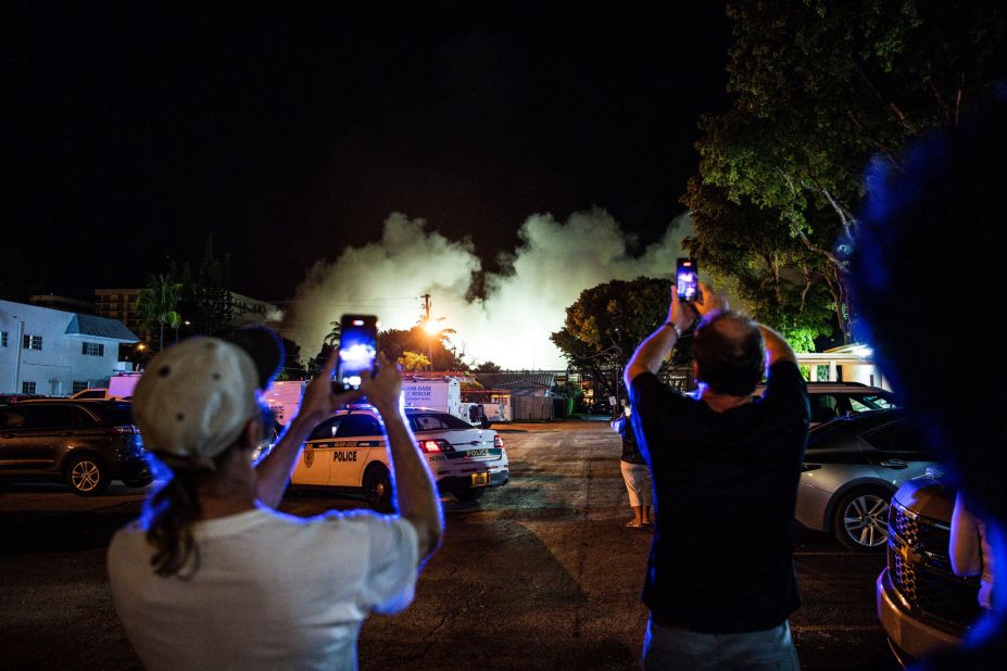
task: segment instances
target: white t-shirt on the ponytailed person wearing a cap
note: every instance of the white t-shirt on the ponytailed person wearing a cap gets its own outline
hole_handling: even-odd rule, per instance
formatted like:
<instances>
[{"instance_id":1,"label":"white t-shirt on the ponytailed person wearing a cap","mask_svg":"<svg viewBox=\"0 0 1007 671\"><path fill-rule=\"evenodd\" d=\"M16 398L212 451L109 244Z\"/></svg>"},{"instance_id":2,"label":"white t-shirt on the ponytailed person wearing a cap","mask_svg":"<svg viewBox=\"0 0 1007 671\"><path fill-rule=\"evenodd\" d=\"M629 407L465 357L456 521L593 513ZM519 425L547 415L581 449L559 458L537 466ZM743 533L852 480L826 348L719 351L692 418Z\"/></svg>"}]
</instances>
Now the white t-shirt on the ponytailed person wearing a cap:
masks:
<instances>
[{"instance_id":1,"label":"white t-shirt on the ponytailed person wearing a cap","mask_svg":"<svg viewBox=\"0 0 1007 671\"><path fill-rule=\"evenodd\" d=\"M256 508L193 536L198 568L168 578L139 522L109 547L115 608L148 669L356 669L367 613L413 600L416 530L402 518Z\"/></svg>"}]
</instances>

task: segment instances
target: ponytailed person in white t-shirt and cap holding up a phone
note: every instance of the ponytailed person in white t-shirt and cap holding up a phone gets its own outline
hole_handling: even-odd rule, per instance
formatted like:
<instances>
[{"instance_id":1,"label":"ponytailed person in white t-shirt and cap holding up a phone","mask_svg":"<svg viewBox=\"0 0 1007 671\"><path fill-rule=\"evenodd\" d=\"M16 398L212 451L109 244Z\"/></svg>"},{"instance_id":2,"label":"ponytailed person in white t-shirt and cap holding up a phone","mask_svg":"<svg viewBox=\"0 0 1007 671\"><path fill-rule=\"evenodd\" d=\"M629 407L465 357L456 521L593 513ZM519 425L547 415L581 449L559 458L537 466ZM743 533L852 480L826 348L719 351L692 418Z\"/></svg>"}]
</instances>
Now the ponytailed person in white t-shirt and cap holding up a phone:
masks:
<instances>
[{"instance_id":1,"label":"ponytailed person in white t-shirt and cap holding up a phone","mask_svg":"<svg viewBox=\"0 0 1007 671\"><path fill-rule=\"evenodd\" d=\"M194 338L151 360L134 395L144 443L172 478L109 548L115 607L149 669L355 669L370 611L413 599L442 516L426 459L399 406L401 376L379 355L361 392L333 395L335 356L309 384L276 448L257 390L280 362L275 337ZM399 515L304 519L277 512L312 429L365 394L381 414Z\"/></svg>"}]
</instances>

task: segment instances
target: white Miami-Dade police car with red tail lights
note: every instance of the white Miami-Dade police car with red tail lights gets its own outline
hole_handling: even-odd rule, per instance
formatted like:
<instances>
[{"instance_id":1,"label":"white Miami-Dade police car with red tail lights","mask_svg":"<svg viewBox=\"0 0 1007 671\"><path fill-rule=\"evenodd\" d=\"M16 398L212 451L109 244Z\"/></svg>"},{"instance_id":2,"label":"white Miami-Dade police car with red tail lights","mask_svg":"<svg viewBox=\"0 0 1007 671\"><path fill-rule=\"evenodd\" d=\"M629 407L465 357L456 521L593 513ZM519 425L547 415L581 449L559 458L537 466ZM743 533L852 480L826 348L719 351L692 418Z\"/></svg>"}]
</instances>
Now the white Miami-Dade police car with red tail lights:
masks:
<instances>
[{"instance_id":1,"label":"white Miami-Dade police car with red tail lights","mask_svg":"<svg viewBox=\"0 0 1007 671\"><path fill-rule=\"evenodd\" d=\"M406 408L405 417L441 492L475 501L511 479L507 453L496 431L429 408ZM388 452L377 410L350 406L318 425L290 482L299 488L362 490L372 508L391 510Z\"/></svg>"}]
</instances>

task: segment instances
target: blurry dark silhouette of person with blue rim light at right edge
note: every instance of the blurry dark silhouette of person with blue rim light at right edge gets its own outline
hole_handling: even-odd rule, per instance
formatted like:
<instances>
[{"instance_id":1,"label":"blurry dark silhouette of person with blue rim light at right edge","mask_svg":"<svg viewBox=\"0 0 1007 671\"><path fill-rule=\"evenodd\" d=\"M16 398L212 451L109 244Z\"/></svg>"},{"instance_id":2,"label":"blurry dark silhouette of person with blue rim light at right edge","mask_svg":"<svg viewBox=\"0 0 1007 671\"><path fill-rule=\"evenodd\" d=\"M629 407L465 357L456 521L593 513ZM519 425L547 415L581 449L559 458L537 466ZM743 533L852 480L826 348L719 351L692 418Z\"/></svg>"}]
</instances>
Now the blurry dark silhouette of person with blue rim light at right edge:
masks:
<instances>
[{"instance_id":1,"label":"blurry dark silhouette of person with blue rim light at right edge","mask_svg":"<svg viewBox=\"0 0 1007 671\"><path fill-rule=\"evenodd\" d=\"M871 343L952 484L986 522L994 564L1007 566L1007 422L998 403L1007 384L998 352L1007 333L1007 105L999 98L897 163L871 166L849 277L855 333ZM994 588L991 605L961 649L921 668L1003 669L1007 592Z\"/></svg>"}]
</instances>

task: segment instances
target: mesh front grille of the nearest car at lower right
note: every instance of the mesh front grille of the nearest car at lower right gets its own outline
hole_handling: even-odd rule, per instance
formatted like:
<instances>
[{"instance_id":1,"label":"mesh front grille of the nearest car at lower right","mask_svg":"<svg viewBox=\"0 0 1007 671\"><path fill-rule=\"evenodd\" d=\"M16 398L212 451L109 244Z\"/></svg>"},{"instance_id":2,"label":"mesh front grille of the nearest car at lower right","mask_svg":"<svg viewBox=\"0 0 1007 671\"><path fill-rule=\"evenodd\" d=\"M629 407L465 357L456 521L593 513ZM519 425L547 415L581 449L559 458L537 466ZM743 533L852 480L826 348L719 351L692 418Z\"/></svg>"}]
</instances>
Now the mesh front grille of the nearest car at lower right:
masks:
<instances>
[{"instance_id":1,"label":"mesh front grille of the nearest car at lower right","mask_svg":"<svg viewBox=\"0 0 1007 671\"><path fill-rule=\"evenodd\" d=\"M968 626L979 616L979 581L958 578L947 556L947 527L892 501L889 574L906 602L930 616Z\"/></svg>"}]
</instances>

